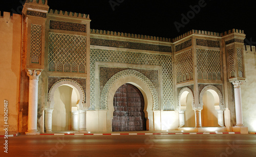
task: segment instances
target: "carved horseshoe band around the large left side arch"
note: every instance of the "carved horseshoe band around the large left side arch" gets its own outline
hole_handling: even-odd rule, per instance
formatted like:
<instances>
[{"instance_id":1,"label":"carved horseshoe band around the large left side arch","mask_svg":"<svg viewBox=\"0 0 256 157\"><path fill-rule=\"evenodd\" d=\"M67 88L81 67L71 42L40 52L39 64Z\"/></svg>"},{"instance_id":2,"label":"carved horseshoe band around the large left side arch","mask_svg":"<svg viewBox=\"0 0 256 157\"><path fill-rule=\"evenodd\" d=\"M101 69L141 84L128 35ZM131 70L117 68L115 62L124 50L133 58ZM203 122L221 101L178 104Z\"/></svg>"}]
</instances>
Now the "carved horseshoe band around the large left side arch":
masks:
<instances>
[{"instance_id":1,"label":"carved horseshoe band around the large left side arch","mask_svg":"<svg viewBox=\"0 0 256 157\"><path fill-rule=\"evenodd\" d=\"M84 94L82 86L78 82L71 80L71 79L59 80L51 87L51 89L49 90L49 93L48 93L47 107L53 109L53 107L54 107L54 92L58 87L63 86L63 85L70 86L76 91L77 95L79 95L79 97L80 97L79 102L78 102L79 109L85 108L84 101L86 99L86 96Z\"/></svg>"}]
</instances>

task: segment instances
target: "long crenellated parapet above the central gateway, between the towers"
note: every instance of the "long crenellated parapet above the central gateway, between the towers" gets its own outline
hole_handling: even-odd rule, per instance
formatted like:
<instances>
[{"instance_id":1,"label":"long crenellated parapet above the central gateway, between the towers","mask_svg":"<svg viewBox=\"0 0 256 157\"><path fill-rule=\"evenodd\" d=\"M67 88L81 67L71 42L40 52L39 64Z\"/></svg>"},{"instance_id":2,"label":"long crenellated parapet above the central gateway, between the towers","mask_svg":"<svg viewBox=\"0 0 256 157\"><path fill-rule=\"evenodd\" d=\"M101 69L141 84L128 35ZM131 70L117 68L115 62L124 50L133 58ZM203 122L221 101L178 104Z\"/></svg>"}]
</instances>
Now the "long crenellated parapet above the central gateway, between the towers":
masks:
<instances>
[{"instance_id":1,"label":"long crenellated parapet above the central gateway, between the towers","mask_svg":"<svg viewBox=\"0 0 256 157\"><path fill-rule=\"evenodd\" d=\"M91 30L91 34L134 38L134 39L142 39L142 40L152 40L152 41L162 41L162 42L171 42L172 41L170 38L153 37L153 36L146 36L146 35L104 31L104 30L94 30L94 29Z\"/></svg>"}]
</instances>

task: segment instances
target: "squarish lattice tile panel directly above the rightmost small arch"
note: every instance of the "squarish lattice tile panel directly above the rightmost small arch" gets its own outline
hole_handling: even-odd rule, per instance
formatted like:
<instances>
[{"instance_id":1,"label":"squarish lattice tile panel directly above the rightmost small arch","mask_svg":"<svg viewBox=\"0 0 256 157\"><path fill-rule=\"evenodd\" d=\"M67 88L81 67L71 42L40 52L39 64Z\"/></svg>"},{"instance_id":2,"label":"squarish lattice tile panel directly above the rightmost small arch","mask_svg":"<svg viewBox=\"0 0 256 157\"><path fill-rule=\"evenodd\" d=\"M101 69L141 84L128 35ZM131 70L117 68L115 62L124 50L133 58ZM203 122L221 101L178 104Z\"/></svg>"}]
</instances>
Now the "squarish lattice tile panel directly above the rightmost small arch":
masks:
<instances>
[{"instance_id":1,"label":"squarish lattice tile panel directly above the rightmost small arch","mask_svg":"<svg viewBox=\"0 0 256 157\"><path fill-rule=\"evenodd\" d=\"M219 50L197 49L198 79L221 80L221 56Z\"/></svg>"}]
</instances>

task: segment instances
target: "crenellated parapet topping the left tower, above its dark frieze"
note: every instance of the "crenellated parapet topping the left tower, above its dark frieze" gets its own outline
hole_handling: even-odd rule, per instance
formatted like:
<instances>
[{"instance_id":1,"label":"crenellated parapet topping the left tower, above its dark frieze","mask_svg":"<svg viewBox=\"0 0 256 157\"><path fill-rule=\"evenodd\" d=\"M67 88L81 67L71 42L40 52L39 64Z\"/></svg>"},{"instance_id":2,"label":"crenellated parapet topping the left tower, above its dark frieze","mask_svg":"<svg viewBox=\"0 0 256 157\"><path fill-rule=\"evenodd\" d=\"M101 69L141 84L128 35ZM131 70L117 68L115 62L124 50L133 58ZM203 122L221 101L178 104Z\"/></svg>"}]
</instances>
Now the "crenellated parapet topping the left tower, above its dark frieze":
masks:
<instances>
[{"instance_id":1,"label":"crenellated parapet topping the left tower, above its dark frieze","mask_svg":"<svg viewBox=\"0 0 256 157\"><path fill-rule=\"evenodd\" d=\"M57 15L57 16L61 16L61 17L73 17L73 18L81 18L81 19L90 19L90 16L88 14L80 14L80 13L68 12L68 11L62 11L62 10L50 9L48 14Z\"/></svg>"}]
</instances>

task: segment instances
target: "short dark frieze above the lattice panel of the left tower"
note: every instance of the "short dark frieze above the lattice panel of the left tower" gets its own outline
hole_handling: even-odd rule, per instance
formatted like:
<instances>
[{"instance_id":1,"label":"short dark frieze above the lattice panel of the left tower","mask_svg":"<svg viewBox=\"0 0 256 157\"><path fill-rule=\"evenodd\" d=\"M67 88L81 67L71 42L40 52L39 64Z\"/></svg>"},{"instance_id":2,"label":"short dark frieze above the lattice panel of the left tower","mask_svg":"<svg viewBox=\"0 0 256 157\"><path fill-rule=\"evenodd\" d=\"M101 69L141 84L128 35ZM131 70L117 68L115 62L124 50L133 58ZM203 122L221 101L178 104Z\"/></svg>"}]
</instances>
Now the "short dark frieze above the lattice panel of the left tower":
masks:
<instances>
[{"instance_id":1,"label":"short dark frieze above the lattice panel of the left tower","mask_svg":"<svg viewBox=\"0 0 256 157\"><path fill-rule=\"evenodd\" d=\"M86 33L87 25L80 24L80 23L71 23L71 22L50 20L50 29Z\"/></svg>"}]
</instances>

